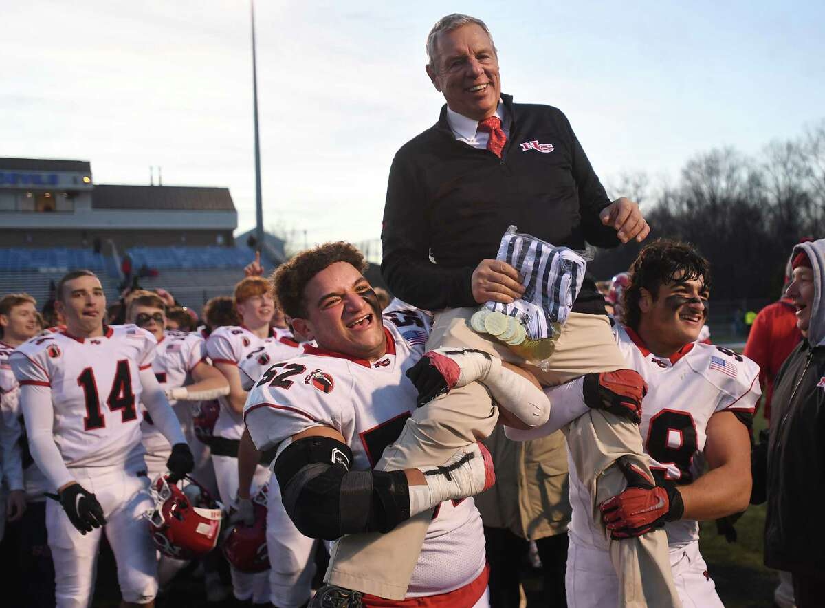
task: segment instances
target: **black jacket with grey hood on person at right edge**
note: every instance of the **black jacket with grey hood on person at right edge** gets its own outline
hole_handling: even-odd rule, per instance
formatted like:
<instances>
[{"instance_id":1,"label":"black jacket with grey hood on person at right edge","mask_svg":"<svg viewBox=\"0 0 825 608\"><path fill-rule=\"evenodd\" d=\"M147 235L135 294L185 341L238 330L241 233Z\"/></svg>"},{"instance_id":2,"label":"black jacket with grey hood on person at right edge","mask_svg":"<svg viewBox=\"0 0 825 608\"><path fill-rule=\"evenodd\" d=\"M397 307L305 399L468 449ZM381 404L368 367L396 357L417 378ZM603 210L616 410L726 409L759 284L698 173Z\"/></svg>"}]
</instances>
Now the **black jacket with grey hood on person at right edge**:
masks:
<instances>
[{"instance_id":1,"label":"black jacket with grey hood on person at right edge","mask_svg":"<svg viewBox=\"0 0 825 608\"><path fill-rule=\"evenodd\" d=\"M765 564L825 570L825 239L801 243L813 269L808 337L776 376L768 443Z\"/></svg>"}]
</instances>

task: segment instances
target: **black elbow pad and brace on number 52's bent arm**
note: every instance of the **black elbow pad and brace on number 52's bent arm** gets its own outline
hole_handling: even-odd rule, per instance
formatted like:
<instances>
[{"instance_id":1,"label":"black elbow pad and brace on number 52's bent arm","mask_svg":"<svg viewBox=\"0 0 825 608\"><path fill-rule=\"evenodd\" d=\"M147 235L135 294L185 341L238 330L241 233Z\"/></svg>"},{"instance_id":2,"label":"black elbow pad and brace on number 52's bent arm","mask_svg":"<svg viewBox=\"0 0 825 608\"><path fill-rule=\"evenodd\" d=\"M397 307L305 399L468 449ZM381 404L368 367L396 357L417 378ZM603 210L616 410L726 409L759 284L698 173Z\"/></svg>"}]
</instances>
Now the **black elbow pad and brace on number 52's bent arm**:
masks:
<instances>
[{"instance_id":1,"label":"black elbow pad and brace on number 52's bent arm","mask_svg":"<svg viewBox=\"0 0 825 608\"><path fill-rule=\"evenodd\" d=\"M301 534L335 540L346 534L389 532L409 518L403 471L350 471L349 446L314 436L288 445L274 471L290 519Z\"/></svg>"}]
</instances>

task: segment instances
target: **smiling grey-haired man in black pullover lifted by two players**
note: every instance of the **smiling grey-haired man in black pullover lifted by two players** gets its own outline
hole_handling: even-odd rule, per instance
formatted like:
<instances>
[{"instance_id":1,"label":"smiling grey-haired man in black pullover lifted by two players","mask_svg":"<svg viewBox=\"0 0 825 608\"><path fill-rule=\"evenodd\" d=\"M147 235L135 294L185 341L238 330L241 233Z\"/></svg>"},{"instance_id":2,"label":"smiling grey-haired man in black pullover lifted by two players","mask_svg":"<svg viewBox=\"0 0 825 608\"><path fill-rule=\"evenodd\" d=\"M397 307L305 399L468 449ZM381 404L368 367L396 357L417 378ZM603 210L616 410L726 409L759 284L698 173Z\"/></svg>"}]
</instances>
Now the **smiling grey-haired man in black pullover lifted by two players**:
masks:
<instances>
[{"instance_id":1,"label":"smiling grey-haired man in black pullover lifted by two players","mask_svg":"<svg viewBox=\"0 0 825 608\"><path fill-rule=\"evenodd\" d=\"M381 235L382 273L398 298L434 311L427 350L472 347L524 365L505 346L469 327L480 304L511 303L524 292L516 269L493 259L507 227L515 224L523 232L575 250L586 243L615 247L632 239L642 241L650 229L633 201L608 199L561 111L516 104L512 96L502 94L497 50L483 21L465 15L443 17L427 37L427 54L427 75L446 105L436 125L404 144L393 160ZM604 299L588 276L549 359L549 371L530 371L541 384L554 385L624 366ZM593 425L577 429L576 441L592 441L593 450L596 439L609 443L601 436L611 433L607 417L598 430ZM384 451L384 467L441 462L457 446L489 436L496 422L497 409L483 386L453 389L413 415L394 448ZM617 451L640 453L638 443ZM600 470L608 469L615 457L614 452ZM589 478L593 477L591 469ZM609 475L602 474L599 483L605 477ZM615 478L618 493L624 481L618 472ZM426 518L421 517L369 543L357 536L343 539L328 581L402 598L416 556L402 564L397 549L420 546L426 529ZM641 550L657 556L653 563L661 573L661 586L655 592L662 598L675 596L665 572L667 540L660 535L652 542L658 547ZM384 559L382 567L380 556L387 554L395 559ZM369 577L364 576L365 566ZM643 578L648 596L657 577L645 570Z\"/></svg>"}]
</instances>

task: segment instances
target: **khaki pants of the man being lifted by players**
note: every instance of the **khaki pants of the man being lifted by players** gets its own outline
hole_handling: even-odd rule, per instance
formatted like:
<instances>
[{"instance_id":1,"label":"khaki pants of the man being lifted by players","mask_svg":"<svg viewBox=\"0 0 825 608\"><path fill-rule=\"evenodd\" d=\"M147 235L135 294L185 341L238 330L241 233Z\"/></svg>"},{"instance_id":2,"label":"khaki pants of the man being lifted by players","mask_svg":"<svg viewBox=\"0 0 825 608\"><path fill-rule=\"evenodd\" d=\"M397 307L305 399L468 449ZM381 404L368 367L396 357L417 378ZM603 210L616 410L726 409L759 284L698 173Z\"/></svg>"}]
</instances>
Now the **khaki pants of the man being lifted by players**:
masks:
<instances>
[{"instance_id":1,"label":"khaki pants of the man being lifted by players","mask_svg":"<svg viewBox=\"0 0 825 608\"><path fill-rule=\"evenodd\" d=\"M469 327L474 311L465 308L436 313L427 350L451 346L487 351L502 361L525 366L545 386L625 366L606 316L571 313L549 359L549 370L544 371L525 365L507 346L474 332ZM408 469L442 463L461 447L490 436L497 418L497 409L483 385L472 383L452 389L413 413L398 441L384 450L375 468ZM620 493L626 485L618 467L612 466L615 459L634 455L649 472L639 429L612 414L591 412L571 423L565 434L579 478L591 488L592 516L601 526L599 503ZM389 534L349 535L337 541L327 571L328 582L403 600L431 516L432 511L420 513ZM623 583L620 606L681 606L673 587L663 530L639 539L611 541L610 546L611 559Z\"/></svg>"}]
</instances>

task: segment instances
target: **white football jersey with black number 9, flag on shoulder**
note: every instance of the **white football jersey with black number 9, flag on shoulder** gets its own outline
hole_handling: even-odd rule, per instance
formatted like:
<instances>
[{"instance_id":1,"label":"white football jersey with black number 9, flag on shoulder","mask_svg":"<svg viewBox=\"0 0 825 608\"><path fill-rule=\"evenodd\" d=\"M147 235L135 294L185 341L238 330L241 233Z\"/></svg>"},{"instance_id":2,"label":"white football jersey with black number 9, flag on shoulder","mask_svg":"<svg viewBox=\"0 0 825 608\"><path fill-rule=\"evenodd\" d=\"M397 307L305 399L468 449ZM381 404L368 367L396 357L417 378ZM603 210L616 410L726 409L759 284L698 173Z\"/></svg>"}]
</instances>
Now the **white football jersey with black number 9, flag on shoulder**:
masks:
<instances>
[{"instance_id":1,"label":"white football jersey with black number 9, flag on shoulder","mask_svg":"<svg viewBox=\"0 0 825 608\"><path fill-rule=\"evenodd\" d=\"M722 346L690 342L670 358L654 355L629 328L613 329L625 364L648 383L642 403L643 448L654 474L691 483L702 474L705 430L716 412L753 413L761 397L759 365ZM571 533L578 542L607 549L587 516L590 498L570 467L570 500L575 504ZM577 507L577 508L576 508ZM665 526L670 549L699 539L699 522L680 520Z\"/></svg>"}]
</instances>

